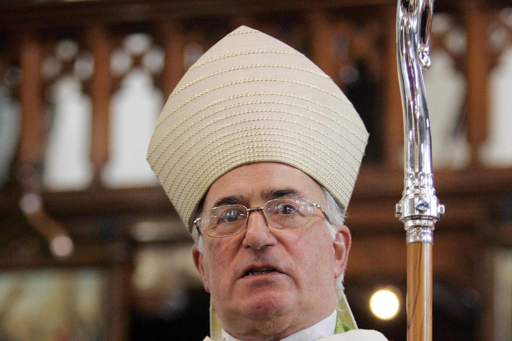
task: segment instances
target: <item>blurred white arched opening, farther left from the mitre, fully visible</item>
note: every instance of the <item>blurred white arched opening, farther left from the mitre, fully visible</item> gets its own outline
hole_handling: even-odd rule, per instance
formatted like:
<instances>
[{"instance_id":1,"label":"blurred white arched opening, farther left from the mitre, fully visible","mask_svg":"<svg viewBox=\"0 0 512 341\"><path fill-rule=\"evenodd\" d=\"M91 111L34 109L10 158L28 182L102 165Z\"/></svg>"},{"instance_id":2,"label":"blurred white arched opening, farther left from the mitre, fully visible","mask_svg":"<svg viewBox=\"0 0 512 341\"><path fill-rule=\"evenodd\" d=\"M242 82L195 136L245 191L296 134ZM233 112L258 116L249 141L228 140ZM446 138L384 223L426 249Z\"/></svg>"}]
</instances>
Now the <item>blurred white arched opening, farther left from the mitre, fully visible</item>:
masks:
<instances>
[{"instance_id":1,"label":"blurred white arched opening, farther left from the mitre, fully visible","mask_svg":"<svg viewBox=\"0 0 512 341\"><path fill-rule=\"evenodd\" d=\"M54 84L54 116L45 153L43 182L50 190L81 190L93 178L91 100L80 80L63 76Z\"/></svg>"}]
</instances>

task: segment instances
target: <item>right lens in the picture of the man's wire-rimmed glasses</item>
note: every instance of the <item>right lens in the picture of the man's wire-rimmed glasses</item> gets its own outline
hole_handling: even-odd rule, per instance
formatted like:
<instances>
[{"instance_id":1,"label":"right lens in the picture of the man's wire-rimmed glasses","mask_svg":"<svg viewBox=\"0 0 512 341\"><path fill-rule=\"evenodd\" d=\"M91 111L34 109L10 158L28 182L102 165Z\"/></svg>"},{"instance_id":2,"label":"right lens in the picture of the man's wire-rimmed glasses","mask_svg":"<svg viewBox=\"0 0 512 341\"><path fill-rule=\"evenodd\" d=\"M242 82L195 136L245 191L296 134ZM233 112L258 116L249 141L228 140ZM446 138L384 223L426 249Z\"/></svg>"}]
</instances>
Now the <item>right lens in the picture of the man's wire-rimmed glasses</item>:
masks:
<instances>
[{"instance_id":1,"label":"right lens in the picture of the man's wire-rimmed glasses","mask_svg":"<svg viewBox=\"0 0 512 341\"><path fill-rule=\"evenodd\" d=\"M270 200L263 210L268 223L277 229L293 229L306 225L313 212L309 201L303 198Z\"/></svg>"}]
</instances>

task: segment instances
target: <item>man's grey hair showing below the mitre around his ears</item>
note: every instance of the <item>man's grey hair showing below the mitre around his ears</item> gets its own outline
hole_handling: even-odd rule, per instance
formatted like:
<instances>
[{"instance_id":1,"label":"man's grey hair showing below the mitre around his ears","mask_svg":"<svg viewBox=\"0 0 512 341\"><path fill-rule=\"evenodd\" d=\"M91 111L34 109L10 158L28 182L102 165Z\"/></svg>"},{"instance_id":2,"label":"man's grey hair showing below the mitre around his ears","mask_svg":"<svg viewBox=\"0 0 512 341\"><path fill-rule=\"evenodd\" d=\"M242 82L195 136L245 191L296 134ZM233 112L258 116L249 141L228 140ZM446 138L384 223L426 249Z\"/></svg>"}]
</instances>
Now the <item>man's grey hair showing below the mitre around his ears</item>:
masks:
<instances>
[{"instance_id":1,"label":"man's grey hair showing below the mitre around his ears","mask_svg":"<svg viewBox=\"0 0 512 341\"><path fill-rule=\"evenodd\" d=\"M330 223L329 223L329 221L325 222L326 228L327 228L327 233L329 234L329 236L331 236L332 240L334 240L336 238L336 233L337 233L336 226L343 225L343 223L345 221L345 217L346 217L345 216L345 208L336 202L336 199L334 199L334 197L328 190L326 190L323 186L321 186L321 188L322 188L322 192L324 193L325 202L326 202L325 207L323 207L323 209L324 209L325 213L327 214L327 216L329 217L329 220L331 221ZM203 209L203 202L204 202L204 199L199 202L198 208L196 209L196 212L194 214L195 218L198 218L201 216L202 209ZM197 244L197 246L199 248L199 252L202 253L203 252L203 238L201 237L198 230L196 229L196 226L192 226L191 230L192 230L192 238L194 238L194 244ZM338 301L342 297L343 291L345 290L345 287L343 286L344 277L345 277L345 272L343 272L343 274L341 276L339 276L338 278L336 278L334 280L334 288L336 290L336 297L337 297Z\"/></svg>"}]
</instances>

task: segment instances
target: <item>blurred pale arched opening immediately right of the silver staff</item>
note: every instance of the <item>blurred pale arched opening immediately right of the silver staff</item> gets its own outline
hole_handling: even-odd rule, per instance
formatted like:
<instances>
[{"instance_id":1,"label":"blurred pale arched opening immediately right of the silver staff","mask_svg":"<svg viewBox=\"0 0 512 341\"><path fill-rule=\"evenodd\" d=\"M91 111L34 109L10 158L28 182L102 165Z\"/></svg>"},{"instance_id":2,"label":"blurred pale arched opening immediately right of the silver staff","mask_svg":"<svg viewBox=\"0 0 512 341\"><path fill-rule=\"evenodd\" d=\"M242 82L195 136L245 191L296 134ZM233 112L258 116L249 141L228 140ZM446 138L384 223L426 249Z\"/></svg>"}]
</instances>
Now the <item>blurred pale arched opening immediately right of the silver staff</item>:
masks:
<instances>
[{"instance_id":1,"label":"blurred pale arched opening immediately right of the silver staff","mask_svg":"<svg viewBox=\"0 0 512 341\"><path fill-rule=\"evenodd\" d=\"M470 159L464 133L455 133L466 93L466 81L455 69L452 57L432 52L432 66L424 73L432 125L432 159L436 168L463 168Z\"/></svg>"}]
</instances>

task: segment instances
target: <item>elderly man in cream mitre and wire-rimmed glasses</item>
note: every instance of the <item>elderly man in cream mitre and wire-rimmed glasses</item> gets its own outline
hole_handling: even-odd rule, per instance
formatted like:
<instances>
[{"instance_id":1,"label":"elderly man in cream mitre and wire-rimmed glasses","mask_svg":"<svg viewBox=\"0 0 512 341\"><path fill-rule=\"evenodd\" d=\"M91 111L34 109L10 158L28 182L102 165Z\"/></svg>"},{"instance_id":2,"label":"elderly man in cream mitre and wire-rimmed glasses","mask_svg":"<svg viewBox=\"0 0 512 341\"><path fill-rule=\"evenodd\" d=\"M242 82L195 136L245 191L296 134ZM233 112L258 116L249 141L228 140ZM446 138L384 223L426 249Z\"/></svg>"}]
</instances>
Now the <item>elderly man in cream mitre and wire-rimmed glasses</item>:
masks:
<instances>
[{"instance_id":1,"label":"elderly man in cream mitre and wire-rimmed glasses","mask_svg":"<svg viewBox=\"0 0 512 341\"><path fill-rule=\"evenodd\" d=\"M190 67L148 162L194 237L214 341L386 340L357 329L342 283L367 139L322 70L257 30Z\"/></svg>"}]
</instances>

